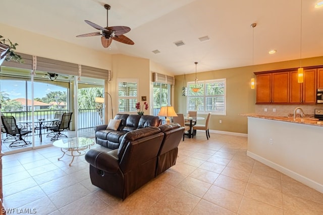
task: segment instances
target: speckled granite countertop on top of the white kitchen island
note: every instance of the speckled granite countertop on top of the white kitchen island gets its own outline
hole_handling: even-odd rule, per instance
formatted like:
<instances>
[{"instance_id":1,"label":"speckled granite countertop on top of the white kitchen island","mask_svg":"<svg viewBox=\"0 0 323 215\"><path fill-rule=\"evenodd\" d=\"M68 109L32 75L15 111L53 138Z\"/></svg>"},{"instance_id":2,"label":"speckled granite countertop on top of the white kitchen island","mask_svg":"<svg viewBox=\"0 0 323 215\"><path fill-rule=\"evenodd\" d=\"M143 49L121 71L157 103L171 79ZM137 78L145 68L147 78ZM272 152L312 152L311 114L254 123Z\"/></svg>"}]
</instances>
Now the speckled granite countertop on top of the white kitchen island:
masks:
<instances>
[{"instance_id":1,"label":"speckled granite countertop on top of the white kitchen island","mask_svg":"<svg viewBox=\"0 0 323 215\"><path fill-rule=\"evenodd\" d=\"M307 125L316 125L316 126L323 126L323 121L318 121L318 119L314 117L297 117L294 119L293 116L265 116L265 115L259 115L255 113L246 113L246 114L240 114L241 116L249 116L249 117L255 117L255 118L261 118L261 119L272 119L272 120L278 120L278 121L285 121L285 122L294 122L294 123L300 123L300 124L307 124Z\"/></svg>"}]
</instances>

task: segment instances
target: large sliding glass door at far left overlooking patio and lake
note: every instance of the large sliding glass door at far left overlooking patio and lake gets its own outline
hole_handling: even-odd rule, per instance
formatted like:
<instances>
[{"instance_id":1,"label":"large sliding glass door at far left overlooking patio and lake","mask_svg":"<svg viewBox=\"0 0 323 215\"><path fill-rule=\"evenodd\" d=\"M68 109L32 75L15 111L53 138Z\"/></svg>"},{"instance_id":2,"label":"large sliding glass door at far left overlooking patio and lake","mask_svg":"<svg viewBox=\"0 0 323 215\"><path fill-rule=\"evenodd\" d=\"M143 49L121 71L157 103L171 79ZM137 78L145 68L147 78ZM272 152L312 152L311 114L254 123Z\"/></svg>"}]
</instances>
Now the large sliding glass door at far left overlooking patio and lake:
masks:
<instances>
[{"instance_id":1,"label":"large sliding glass door at far left overlooking patio and lake","mask_svg":"<svg viewBox=\"0 0 323 215\"><path fill-rule=\"evenodd\" d=\"M19 134L6 131L2 126L2 149L5 153L24 151L51 145L50 127L60 116L70 111L69 93L73 77L2 66L0 71L1 114L13 119L23 140L15 141ZM8 126L8 124L7 124ZM73 134L72 134L73 135ZM29 144L30 143L30 144Z\"/></svg>"}]
</instances>

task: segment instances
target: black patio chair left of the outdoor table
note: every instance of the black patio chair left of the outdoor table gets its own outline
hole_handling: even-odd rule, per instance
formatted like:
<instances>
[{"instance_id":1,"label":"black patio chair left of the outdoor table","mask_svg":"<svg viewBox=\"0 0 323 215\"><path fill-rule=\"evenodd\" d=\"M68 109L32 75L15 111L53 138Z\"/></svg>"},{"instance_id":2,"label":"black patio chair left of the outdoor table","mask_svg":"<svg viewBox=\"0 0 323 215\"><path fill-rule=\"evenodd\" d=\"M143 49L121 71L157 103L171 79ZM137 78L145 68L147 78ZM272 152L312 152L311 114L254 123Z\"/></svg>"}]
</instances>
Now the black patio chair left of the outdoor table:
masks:
<instances>
[{"instance_id":1,"label":"black patio chair left of the outdoor table","mask_svg":"<svg viewBox=\"0 0 323 215\"><path fill-rule=\"evenodd\" d=\"M9 147L24 147L31 144L30 141L26 141L23 136L31 132L31 130L22 130L16 124L14 116L1 116L2 124L8 136L4 142L11 142Z\"/></svg>"}]
</instances>

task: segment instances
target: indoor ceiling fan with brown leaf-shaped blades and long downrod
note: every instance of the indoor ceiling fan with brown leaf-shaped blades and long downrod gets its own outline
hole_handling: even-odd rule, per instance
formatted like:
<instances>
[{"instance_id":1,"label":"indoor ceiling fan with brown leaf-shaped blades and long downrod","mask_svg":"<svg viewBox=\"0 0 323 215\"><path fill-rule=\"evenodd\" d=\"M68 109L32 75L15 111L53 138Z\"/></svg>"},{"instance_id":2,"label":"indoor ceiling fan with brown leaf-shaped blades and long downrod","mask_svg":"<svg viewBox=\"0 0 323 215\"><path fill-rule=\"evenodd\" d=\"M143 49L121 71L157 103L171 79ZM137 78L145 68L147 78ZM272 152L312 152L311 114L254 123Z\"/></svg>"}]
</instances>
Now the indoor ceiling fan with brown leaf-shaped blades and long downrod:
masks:
<instances>
[{"instance_id":1,"label":"indoor ceiling fan with brown leaf-shaped blades and long downrod","mask_svg":"<svg viewBox=\"0 0 323 215\"><path fill-rule=\"evenodd\" d=\"M133 45L135 44L131 39L126 37L125 33L128 33L131 29L126 26L112 26L109 27L108 25L108 11L111 9L110 5L104 5L104 8L106 9L106 27L103 28L99 25L96 25L95 23L92 23L88 20L84 20L87 24L92 26L93 28L97 30L101 30L101 32L93 32L93 33L87 33L87 34L81 34L76 37L90 37L90 36L98 36L101 35L101 43L104 48L107 48L111 45L112 40L116 40L121 43Z\"/></svg>"}]
</instances>

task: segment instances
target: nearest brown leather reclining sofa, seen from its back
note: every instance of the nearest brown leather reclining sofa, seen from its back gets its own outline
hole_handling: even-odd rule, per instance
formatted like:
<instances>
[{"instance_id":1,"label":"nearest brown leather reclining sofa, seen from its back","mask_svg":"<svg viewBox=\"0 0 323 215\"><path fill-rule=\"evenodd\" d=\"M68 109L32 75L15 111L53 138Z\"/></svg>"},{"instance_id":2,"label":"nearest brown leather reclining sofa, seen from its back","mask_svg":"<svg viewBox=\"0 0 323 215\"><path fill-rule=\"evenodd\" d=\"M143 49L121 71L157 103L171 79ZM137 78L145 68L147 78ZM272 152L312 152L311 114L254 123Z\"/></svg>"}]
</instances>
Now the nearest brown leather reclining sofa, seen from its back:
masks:
<instances>
[{"instance_id":1,"label":"nearest brown leather reclining sofa, seen from its back","mask_svg":"<svg viewBox=\"0 0 323 215\"><path fill-rule=\"evenodd\" d=\"M126 133L119 149L89 150L85 160L90 164L92 184L124 200L175 165L183 132L177 123L141 128Z\"/></svg>"}]
</instances>

